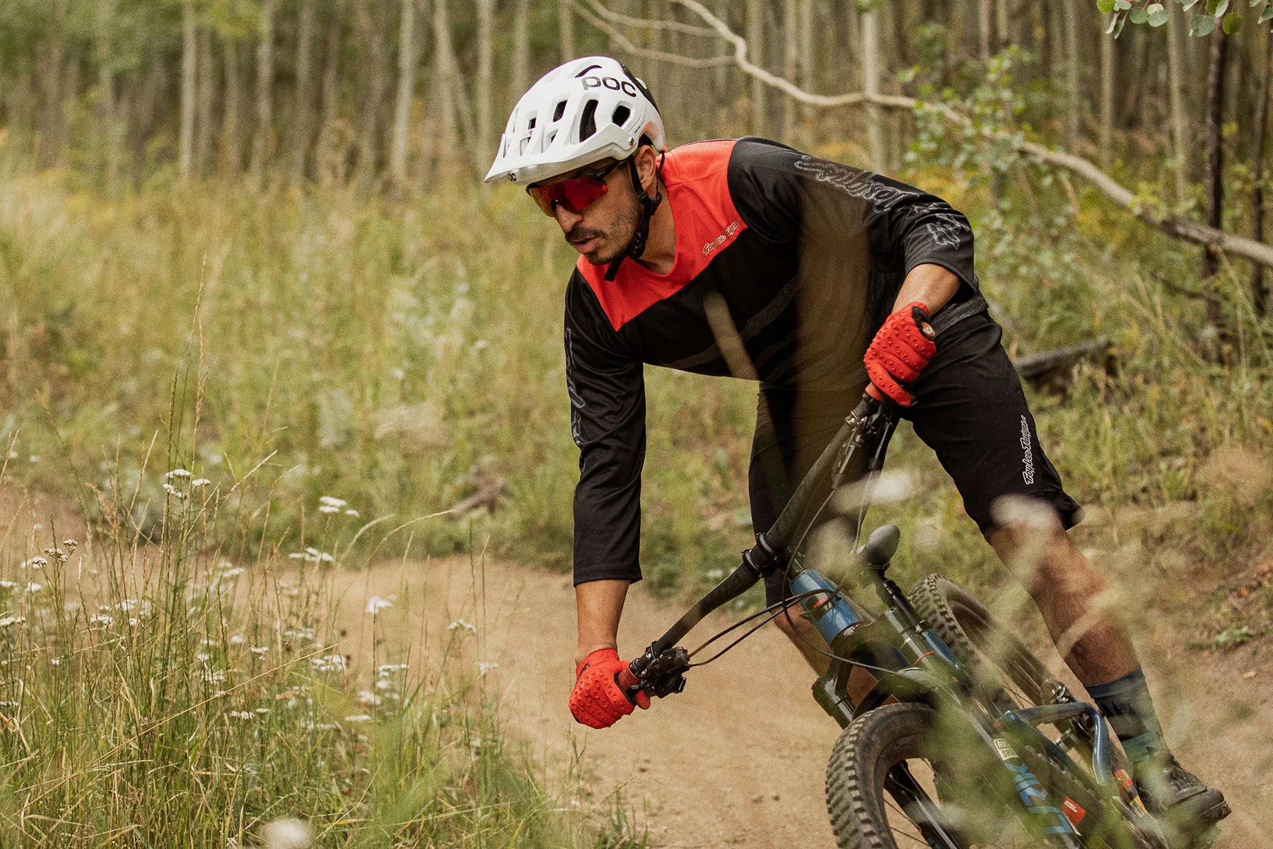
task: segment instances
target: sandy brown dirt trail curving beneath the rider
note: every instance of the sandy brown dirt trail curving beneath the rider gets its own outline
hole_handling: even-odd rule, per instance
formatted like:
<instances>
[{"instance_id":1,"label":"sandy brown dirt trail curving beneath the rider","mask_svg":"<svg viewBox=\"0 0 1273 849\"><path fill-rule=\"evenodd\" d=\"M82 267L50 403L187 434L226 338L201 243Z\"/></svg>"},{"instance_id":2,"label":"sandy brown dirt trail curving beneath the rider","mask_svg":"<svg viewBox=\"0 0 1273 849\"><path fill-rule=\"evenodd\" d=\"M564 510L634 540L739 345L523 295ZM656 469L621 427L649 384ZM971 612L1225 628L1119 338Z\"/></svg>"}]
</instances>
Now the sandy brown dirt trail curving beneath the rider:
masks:
<instances>
[{"instance_id":1,"label":"sandy brown dirt trail curving beneath the rider","mask_svg":"<svg viewBox=\"0 0 1273 849\"><path fill-rule=\"evenodd\" d=\"M514 726L558 768L578 747L593 801L603 804L621 790L625 807L644 810L638 818L651 845L835 845L822 782L839 729L813 703L812 672L777 629L694 670L680 696L597 732L574 723L565 706L575 626L566 575L503 563L474 570L467 560L444 560L379 568L346 587L350 611L360 611L367 594L410 593L410 621L402 626L418 635L412 642L435 645L447 624L472 622L474 658L499 663L490 675ZM679 614L638 584L620 649L630 654L645 645ZM700 629L709 634L724 621ZM1217 849L1273 845L1273 664L1256 644L1220 657L1172 648L1167 630L1144 645L1179 755L1221 784L1237 811ZM1249 672L1255 675L1244 677Z\"/></svg>"}]
</instances>

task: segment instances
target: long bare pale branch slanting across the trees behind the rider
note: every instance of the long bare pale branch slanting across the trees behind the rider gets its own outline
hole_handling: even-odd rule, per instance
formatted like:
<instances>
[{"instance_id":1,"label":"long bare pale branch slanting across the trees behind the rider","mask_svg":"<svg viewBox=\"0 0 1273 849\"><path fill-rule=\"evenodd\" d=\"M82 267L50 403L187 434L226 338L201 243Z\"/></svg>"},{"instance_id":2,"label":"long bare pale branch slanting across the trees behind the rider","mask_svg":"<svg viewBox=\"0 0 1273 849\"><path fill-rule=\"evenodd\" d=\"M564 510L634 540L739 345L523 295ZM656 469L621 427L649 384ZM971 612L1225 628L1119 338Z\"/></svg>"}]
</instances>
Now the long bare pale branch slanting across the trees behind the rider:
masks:
<instances>
[{"instance_id":1,"label":"long bare pale branch slanting across the trees behind the rider","mask_svg":"<svg viewBox=\"0 0 1273 849\"><path fill-rule=\"evenodd\" d=\"M910 111L924 108L934 111L939 113L942 117L960 126L965 127L973 126L971 118L969 118L962 112L951 108L950 106L942 103L928 103L924 101L917 101L913 97L904 97L900 94L867 95L863 94L862 92L853 92L849 94L813 94L811 92L806 92L805 89L799 88L791 80L771 74L765 69L754 65L751 61L749 61L747 39L740 36L738 33L733 32L732 29L729 29L728 24L726 24L723 20L713 15L701 3L699 3L698 0L672 0L672 1L685 6L686 9L696 14L701 20L708 23L722 38L732 43L733 45L732 61L743 73L755 76L760 81L771 85L784 92L785 94L789 94L792 98L799 101L801 103L808 103L811 106L822 106L822 107L873 103L887 108L910 109ZM583 9L579 5L575 5L575 8L579 9L580 13L583 13ZM593 23L597 23L600 20L594 15L586 14L586 17L589 17L589 19L593 20ZM598 25L601 24L598 23ZM614 28L611 28L608 24L606 24L602 28L606 29L606 32L610 32L611 34L617 33L617 31L614 31ZM616 37L621 38L621 36L617 34ZM638 52L638 55L658 53L658 51L640 52L640 50L635 50L634 52ZM668 56L671 55L659 53L653 57L667 59ZM687 64L690 61L704 61L704 60L686 60L684 56L677 59L682 64ZM719 61L719 59L721 57L717 57L710 61L715 64ZM724 59L728 60L729 57ZM677 60L667 59L667 61L677 61ZM1251 262L1255 262L1258 265L1273 269L1273 247L1264 244L1263 242L1256 242L1255 239L1249 239L1242 235L1235 235L1232 233L1216 229L1213 227L1207 227L1206 224L1192 221L1179 215L1164 215L1155 213L1152 209L1142 206L1139 202L1137 202L1134 192L1122 186L1116 179L1114 179L1113 177L1110 177L1104 171L1097 168L1087 159L1083 159L1082 157L1077 157L1072 153L1066 153L1064 150L1053 150L1035 141L1023 141L1021 139L1015 137L1009 132L985 130L983 131L983 134L985 135L985 137L989 139L1011 141L1018 153L1034 157L1035 159L1046 162L1048 164L1051 165L1057 165L1058 168L1063 168L1066 171L1069 171L1071 173L1082 177L1083 179L1090 182L1094 187L1096 187L1097 191L1105 195L1105 197L1114 201L1123 209L1128 210L1138 220L1141 220L1144 224L1148 224L1156 230L1166 233L1167 235L1178 238L1183 242L1193 242L1194 244L1208 246L1220 251L1225 251L1234 256L1240 256L1244 260L1250 260Z\"/></svg>"}]
</instances>

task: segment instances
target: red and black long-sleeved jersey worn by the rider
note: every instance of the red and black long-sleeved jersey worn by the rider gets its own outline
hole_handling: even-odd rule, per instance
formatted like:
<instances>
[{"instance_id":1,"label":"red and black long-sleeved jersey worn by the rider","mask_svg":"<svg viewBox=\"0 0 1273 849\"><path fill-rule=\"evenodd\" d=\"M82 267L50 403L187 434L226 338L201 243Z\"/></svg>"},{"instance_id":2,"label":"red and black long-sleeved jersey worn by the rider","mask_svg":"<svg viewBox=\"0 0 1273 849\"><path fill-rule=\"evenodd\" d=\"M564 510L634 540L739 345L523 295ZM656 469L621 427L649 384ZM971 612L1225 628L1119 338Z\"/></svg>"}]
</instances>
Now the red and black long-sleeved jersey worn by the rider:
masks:
<instances>
[{"instance_id":1,"label":"red and black long-sleeved jersey worn by the rider","mask_svg":"<svg viewBox=\"0 0 1273 849\"><path fill-rule=\"evenodd\" d=\"M628 260L606 280L580 257L566 288L577 584L640 579L643 365L729 374L709 304L727 308L761 382L817 389L866 382L862 355L917 265L964 281L943 313L985 308L967 219L905 183L752 137L677 148L662 179L672 270Z\"/></svg>"}]
</instances>

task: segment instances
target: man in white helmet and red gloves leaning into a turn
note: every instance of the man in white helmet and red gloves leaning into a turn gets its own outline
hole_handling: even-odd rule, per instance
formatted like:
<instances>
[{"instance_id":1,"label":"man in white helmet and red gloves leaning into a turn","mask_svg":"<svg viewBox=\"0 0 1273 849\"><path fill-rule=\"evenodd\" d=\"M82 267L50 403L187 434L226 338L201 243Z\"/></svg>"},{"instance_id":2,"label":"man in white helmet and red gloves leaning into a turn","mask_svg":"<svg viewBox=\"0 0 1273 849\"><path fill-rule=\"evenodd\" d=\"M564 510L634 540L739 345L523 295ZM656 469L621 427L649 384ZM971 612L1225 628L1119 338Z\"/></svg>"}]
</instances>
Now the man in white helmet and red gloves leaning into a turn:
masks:
<instances>
[{"instance_id":1,"label":"man in white helmet and red gloves leaning into a turn","mask_svg":"<svg viewBox=\"0 0 1273 849\"><path fill-rule=\"evenodd\" d=\"M526 186L579 252L565 294L566 387L579 447L574 717L605 728L633 712L617 686L616 633L640 580L644 364L759 379L752 523L766 530L866 386L892 398L955 480L1004 561L1049 508L1027 589L1053 639L1105 584L1066 531L1081 518L1049 462L973 271L973 230L943 200L765 139L667 150L645 85L589 56L517 103L486 182ZM924 325L936 337L924 332ZM1037 517L1037 510L1034 516ZM1031 527L1035 526L1035 527ZM769 603L787 591L766 580ZM1220 790L1171 755L1130 638L1110 616L1066 662L1123 743L1146 804L1185 824L1228 815ZM775 620L820 671L815 630ZM649 706L644 694L636 696Z\"/></svg>"}]
</instances>

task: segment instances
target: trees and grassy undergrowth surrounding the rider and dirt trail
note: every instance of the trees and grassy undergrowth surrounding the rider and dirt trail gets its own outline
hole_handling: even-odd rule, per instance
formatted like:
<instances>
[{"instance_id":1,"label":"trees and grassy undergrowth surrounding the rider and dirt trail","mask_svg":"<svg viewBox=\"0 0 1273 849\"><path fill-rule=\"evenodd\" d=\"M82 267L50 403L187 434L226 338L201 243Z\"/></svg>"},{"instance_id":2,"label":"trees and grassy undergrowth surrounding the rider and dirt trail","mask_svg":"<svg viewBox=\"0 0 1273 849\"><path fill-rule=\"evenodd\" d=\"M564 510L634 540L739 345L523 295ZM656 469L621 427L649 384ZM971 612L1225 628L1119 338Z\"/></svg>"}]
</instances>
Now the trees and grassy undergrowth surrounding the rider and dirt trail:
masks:
<instances>
[{"instance_id":1,"label":"trees and grassy undergrowth surrounding the rider and dirt trail","mask_svg":"<svg viewBox=\"0 0 1273 849\"><path fill-rule=\"evenodd\" d=\"M552 845L554 829L574 827L552 825L559 801L517 757L474 748L468 731L430 738L437 714L420 712L454 705L423 695L368 714L395 740L420 736L418 760L392 769L359 761L378 748L344 728L325 738L349 759L344 771L326 756L284 766L248 752L271 734L283 752L298 729L340 726L331 715L388 678L285 661L297 633L322 643L335 620L317 602L278 607L274 654L257 653L278 661L275 677L248 687L257 701L229 704L225 670L251 661L251 640L230 638L270 617L207 600L295 605L306 580L320 593L334 572L387 556L568 566L577 454L560 312L573 255L519 191L480 177L521 93L588 53L645 79L672 145L765 135L965 211L1009 353L1080 346L1048 358L1030 392L1040 438L1087 508L1085 547L1136 584L1141 616L1178 617L1190 650L1262 640L1273 629L1267 17L1264 0L8 0L0 587L14 621L0 631L10 661L80 659L75 676L69 662L6 666L6 722L31 718L31 694L56 694L69 724L53 728L80 737L60 745L78 752L67 766L34 727L31 740L5 736L0 816L45 829L42 840L79 840L179 780L202 807L155 806L148 834L197 821L243 841L272 816L252 793L283 787L253 790L267 770L253 778L243 764L274 764L272 782L306 776L298 810L327 806L345 822L369 806L323 832L351 841L368 820L421 834L404 811L424 798L477 812L446 820L454 840L477 840L488 804L522 835L509 840ZM750 537L755 395L657 370L647 381L642 559L649 583L676 596L718 579ZM913 541L899 570L1006 582L920 448L899 435L891 462L910 498L880 517ZM67 552L57 524L99 544ZM163 568L135 577L151 550ZM92 591L113 614L39 596L88 592L59 573L75 558L78 579L84 558L118 578ZM234 578L260 579L261 592L225 578L244 568ZM56 574L32 580L32 569ZM204 601L173 591L187 583ZM153 617L121 616L140 597ZM99 642L108 628L123 630ZM173 672L173 644L202 678ZM120 652L150 666L121 671ZM94 687L106 670L151 706L126 710ZM430 675L401 686L434 692L452 673ZM480 677L461 678L472 698L448 727L480 737L498 724L495 703ZM157 680L172 691L155 695ZM260 714L255 742L234 731L232 713L288 692L309 714ZM155 743L167 771L130 773L85 717L130 746L178 722L160 717L210 736L176 760ZM242 764L225 771L234 746L247 747ZM457 746L472 759L438 783L430 759ZM112 764L127 792L107 793L76 759ZM213 790L187 775L209 769L237 778ZM339 792L359 780L376 792ZM78 831L66 825L76 810ZM52 825L31 825L33 812ZM615 840L625 827L605 826ZM570 839L591 840L588 829Z\"/></svg>"}]
</instances>

